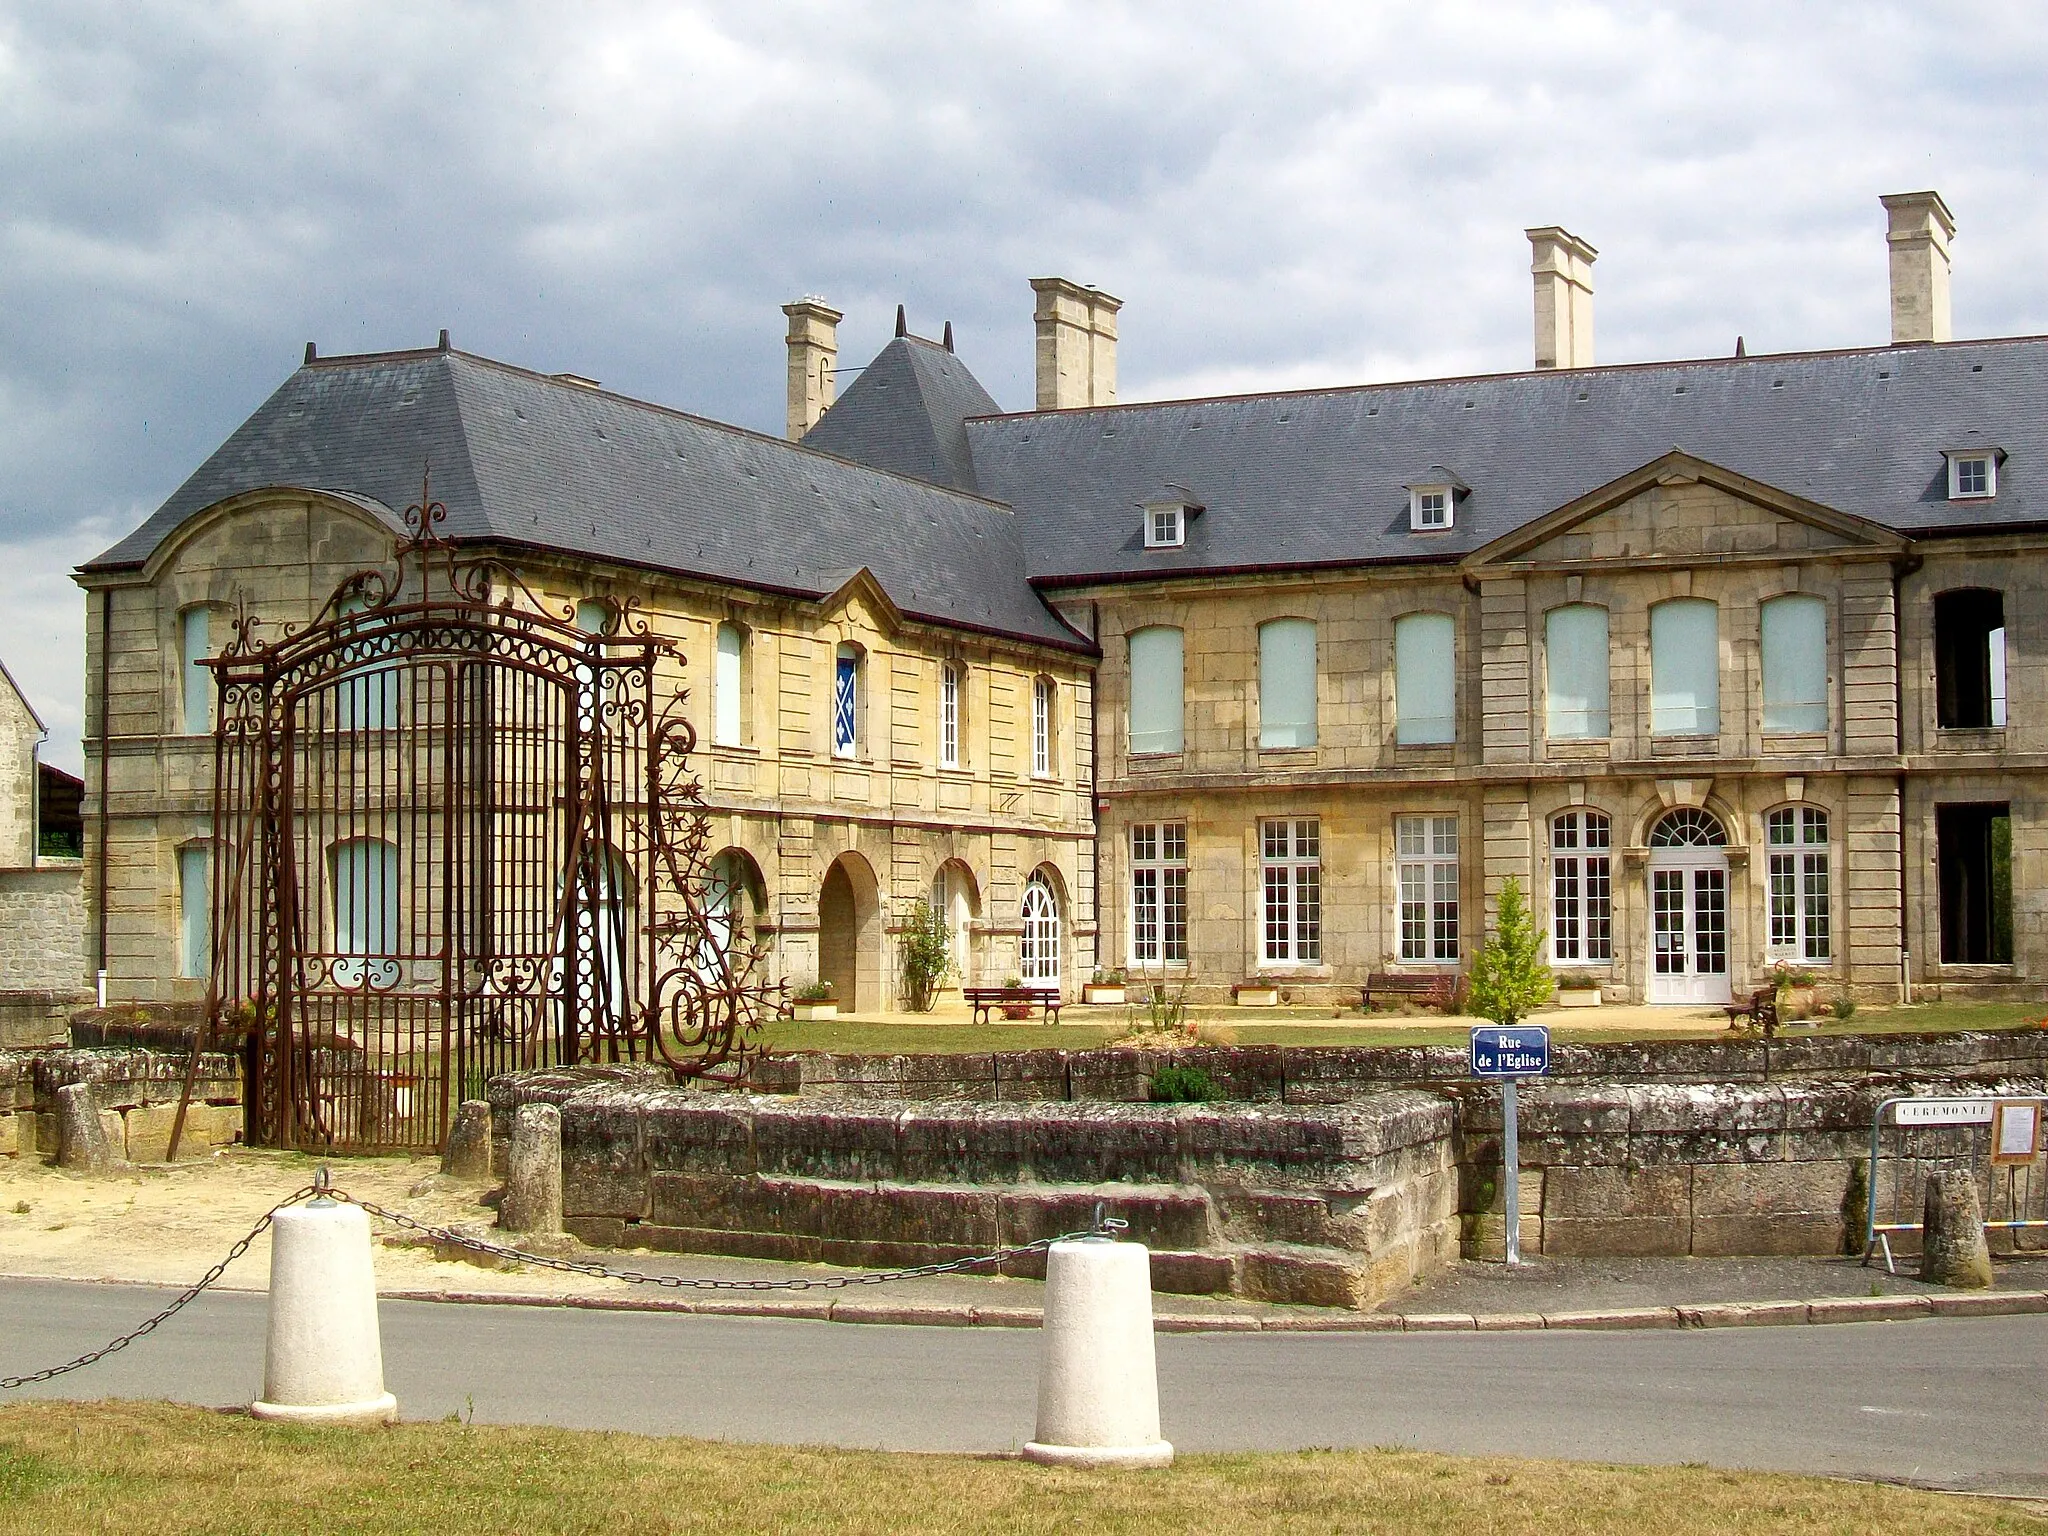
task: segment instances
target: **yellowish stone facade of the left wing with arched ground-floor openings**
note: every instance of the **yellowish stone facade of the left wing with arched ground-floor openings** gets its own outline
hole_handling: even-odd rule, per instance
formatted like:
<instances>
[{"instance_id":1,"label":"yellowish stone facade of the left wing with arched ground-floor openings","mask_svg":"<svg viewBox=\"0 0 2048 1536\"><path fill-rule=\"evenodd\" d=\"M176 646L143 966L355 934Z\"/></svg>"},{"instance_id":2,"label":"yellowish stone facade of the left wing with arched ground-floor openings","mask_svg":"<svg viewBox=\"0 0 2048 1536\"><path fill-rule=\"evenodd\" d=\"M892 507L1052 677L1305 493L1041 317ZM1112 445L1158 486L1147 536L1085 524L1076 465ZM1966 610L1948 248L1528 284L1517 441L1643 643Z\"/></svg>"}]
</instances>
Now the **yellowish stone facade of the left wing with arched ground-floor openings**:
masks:
<instances>
[{"instance_id":1,"label":"yellowish stone facade of the left wing with arched ground-floor openings","mask_svg":"<svg viewBox=\"0 0 2048 1536\"><path fill-rule=\"evenodd\" d=\"M387 565L391 553L391 530L346 500L252 494L195 518L141 571L86 578L88 719L98 719L104 688L111 735L109 815L100 819L96 797L88 801L86 866L98 868L104 836L111 1001L188 999L205 989L201 977L178 975L178 852L209 838L213 776L213 741L203 733L211 725L184 717L184 616L211 614L213 649L240 604L264 621L303 625L350 571ZM715 821L711 852L743 858L750 915L776 979L825 975L858 1008L895 1006L895 934L942 868L967 907L971 981L1018 969L1032 879L1059 905L1063 985L1087 975L1094 705L1092 668L1073 649L905 621L862 580L811 602L590 559L524 555L518 571L563 608L631 604L635 623L678 645L680 666L664 666L657 688L688 692L694 768ZM745 635L731 743L715 739L713 721L721 623ZM834 756L829 735L842 643L862 655L864 719L850 758ZM938 762L942 666L963 680L956 768ZM1047 772L1032 764L1038 680L1053 698ZM86 752L96 784L100 743L88 739Z\"/></svg>"}]
</instances>

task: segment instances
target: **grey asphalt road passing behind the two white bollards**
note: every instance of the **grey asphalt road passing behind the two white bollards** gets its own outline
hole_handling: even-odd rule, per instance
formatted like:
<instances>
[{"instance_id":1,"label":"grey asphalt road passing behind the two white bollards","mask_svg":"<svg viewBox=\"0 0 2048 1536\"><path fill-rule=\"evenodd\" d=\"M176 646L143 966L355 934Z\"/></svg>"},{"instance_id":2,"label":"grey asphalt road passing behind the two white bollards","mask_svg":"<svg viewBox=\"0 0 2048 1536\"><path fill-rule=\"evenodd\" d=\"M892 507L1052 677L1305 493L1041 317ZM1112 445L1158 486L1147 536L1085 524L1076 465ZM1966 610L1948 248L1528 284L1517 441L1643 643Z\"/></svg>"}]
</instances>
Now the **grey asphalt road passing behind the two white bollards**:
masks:
<instances>
[{"instance_id":1,"label":"grey asphalt road passing behind the two white bollards","mask_svg":"<svg viewBox=\"0 0 2048 1536\"><path fill-rule=\"evenodd\" d=\"M172 1292L0 1282L0 1374L55 1364ZM209 1292L59 1397L246 1403L264 1296ZM1038 1335L662 1313L383 1303L410 1419L705 1438L1012 1450ZM0 1395L0 1401L14 1397ZM1190 1333L1159 1337L1182 1450L1419 1446L1710 1462L2048 1493L2048 1317L1649 1333Z\"/></svg>"}]
</instances>

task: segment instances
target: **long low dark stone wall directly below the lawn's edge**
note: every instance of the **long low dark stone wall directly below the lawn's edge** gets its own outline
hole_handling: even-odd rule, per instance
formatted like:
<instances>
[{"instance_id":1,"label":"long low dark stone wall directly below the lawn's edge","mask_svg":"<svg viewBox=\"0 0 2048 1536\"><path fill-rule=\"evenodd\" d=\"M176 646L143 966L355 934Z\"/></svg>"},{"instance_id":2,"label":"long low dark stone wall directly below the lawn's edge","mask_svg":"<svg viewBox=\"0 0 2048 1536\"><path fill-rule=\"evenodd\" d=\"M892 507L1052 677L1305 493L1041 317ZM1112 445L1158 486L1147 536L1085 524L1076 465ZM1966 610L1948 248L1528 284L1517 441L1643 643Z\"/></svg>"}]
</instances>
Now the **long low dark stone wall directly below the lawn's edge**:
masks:
<instances>
[{"instance_id":1,"label":"long low dark stone wall directly below the lawn's edge","mask_svg":"<svg viewBox=\"0 0 2048 1536\"><path fill-rule=\"evenodd\" d=\"M965 1098L985 1102L1145 1100L1151 1075L1178 1061L1202 1067L1247 1104L1341 1104L1393 1087L1470 1081L1462 1044L1282 1047L1184 1051L993 1051L946 1057L803 1053L750 1065L750 1085L803 1098ZM1939 1073L1958 1081L2048 1073L2048 1030L1790 1036L1784 1040L1626 1040L1554 1044L1550 1081L1765 1083L1786 1077Z\"/></svg>"}]
</instances>

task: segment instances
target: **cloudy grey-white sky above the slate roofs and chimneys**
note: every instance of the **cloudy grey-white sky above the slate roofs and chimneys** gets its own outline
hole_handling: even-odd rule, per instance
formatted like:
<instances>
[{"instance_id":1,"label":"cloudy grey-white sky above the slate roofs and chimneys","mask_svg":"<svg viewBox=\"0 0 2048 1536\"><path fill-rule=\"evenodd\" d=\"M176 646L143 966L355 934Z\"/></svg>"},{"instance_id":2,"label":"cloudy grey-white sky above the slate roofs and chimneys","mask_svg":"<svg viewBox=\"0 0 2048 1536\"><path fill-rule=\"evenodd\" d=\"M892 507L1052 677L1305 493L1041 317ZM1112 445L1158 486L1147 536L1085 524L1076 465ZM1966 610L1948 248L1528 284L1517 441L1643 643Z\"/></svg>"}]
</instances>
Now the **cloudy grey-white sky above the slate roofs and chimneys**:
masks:
<instances>
[{"instance_id":1,"label":"cloudy grey-white sky above the slate roofs and chimneys","mask_svg":"<svg viewBox=\"0 0 2048 1536\"><path fill-rule=\"evenodd\" d=\"M455 344L762 430L778 305L895 305L1012 408L1028 276L1124 399L1888 338L1878 195L1956 209L1956 334L2048 332L2034 4L0 0L0 657L78 766L82 596L297 365Z\"/></svg>"}]
</instances>

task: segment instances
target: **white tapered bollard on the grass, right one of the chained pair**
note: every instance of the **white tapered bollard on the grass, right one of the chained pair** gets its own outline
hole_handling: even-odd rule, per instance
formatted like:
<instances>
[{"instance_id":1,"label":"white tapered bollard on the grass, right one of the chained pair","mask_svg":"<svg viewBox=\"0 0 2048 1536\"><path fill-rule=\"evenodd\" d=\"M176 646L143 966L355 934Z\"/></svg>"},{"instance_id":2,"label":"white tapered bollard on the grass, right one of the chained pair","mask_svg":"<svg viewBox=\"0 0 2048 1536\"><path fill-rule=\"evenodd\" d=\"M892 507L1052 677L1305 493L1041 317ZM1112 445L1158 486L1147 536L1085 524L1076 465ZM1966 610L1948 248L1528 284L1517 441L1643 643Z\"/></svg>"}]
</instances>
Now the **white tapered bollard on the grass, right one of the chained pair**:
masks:
<instances>
[{"instance_id":1,"label":"white tapered bollard on the grass, right one of the chained pair","mask_svg":"<svg viewBox=\"0 0 2048 1536\"><path fill-rule=\"evenodd\" d=\"M1024 1460L1047 1466L1169 1466L1159 1438L1151 1253L1083 1237L1044 1260L1038 1434Z\"/></svg>"}]
</instances>

